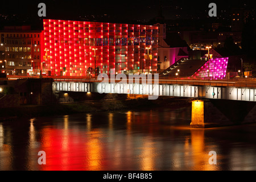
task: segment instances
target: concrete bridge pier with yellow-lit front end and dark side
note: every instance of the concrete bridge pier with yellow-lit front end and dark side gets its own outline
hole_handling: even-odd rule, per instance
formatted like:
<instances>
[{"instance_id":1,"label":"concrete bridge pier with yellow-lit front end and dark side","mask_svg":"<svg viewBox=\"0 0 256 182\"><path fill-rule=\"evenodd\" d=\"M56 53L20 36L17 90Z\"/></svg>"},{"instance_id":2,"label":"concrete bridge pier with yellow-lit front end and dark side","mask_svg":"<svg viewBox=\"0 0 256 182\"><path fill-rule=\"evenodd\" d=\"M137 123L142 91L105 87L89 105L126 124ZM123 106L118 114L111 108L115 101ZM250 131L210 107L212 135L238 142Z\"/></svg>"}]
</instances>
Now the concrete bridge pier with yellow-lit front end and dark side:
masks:
<instances>
[{"instance_id":1,"label":"concrete bridge pier with yellow-lit front end and dark side","mask_svg":"<svg viewBox=\"0 0 256 182\"><path fill-rule=\"evenodd\" d=\"M192 100L191 127L206 128L255 122L255 102Z\"/></svg>"}]
</instances>

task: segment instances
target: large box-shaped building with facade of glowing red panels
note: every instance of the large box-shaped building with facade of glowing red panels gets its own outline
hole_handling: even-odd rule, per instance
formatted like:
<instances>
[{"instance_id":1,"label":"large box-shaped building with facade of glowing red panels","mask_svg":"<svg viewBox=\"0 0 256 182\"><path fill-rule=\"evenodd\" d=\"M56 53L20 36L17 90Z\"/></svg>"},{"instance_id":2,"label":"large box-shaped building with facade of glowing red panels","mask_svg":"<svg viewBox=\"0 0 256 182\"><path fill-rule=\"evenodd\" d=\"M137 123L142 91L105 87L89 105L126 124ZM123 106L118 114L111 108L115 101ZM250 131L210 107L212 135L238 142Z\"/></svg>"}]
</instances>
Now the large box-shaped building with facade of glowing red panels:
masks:
<instances>
[{"instance_id":1,"label":"large box-shaped building with facade of glowing red panels","mask_svg":"<svg viewBox=\"0 0 256 182\"><path fill-rule=\"evenodd\" d=\"M44 19L43 74L156 73L158 27Z\"/></svg>"}]
</instances>

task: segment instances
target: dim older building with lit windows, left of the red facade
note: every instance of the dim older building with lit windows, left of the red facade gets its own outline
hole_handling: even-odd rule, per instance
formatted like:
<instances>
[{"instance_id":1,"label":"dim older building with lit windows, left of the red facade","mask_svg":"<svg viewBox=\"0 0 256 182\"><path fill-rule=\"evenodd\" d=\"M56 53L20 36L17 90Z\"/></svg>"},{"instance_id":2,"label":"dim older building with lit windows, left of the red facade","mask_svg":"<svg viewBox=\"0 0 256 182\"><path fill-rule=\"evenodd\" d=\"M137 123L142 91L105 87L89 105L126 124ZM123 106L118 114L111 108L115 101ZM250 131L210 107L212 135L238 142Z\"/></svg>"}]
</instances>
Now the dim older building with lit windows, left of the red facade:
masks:
<instances>
[{"instance_id":1,"label":"dim older building with lit windows, left of the red facade","mask_svg":"<svg viewBox=\"0 0 256 182\"><path fill-rule=\"evenodd\" d=\"M40 75L43 31L30 26L5 27L1 34L1 72L7 75Z\"/></svg>"}]
</instances>

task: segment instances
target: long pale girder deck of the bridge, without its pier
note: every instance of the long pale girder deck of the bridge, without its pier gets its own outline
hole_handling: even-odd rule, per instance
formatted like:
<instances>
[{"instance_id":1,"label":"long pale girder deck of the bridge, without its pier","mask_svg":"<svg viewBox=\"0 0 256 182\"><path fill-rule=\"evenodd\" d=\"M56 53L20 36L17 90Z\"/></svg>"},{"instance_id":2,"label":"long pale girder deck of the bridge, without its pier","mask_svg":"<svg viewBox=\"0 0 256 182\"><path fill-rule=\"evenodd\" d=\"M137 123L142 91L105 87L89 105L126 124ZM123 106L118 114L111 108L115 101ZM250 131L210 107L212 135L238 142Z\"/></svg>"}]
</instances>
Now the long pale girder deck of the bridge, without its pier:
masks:
<instances>
[{"instance_id":1,"label":"long pale girder deck of the bridge, without its pier","mask_svg":"<svg viewBox=\"0 0 256 182\"><path fill-rule=\"evenodd\" d=\"M149 83L148 83L149 82ZM96 92L117 94L138 94L148 96L170 96L207 98L236 101L256 101L256 80L189 80L154 79L133 83L109 79L108 82L88 79L56 78L58 92ZM155 97L156 98L156 97Z\"/></svg>"}]
</instances>

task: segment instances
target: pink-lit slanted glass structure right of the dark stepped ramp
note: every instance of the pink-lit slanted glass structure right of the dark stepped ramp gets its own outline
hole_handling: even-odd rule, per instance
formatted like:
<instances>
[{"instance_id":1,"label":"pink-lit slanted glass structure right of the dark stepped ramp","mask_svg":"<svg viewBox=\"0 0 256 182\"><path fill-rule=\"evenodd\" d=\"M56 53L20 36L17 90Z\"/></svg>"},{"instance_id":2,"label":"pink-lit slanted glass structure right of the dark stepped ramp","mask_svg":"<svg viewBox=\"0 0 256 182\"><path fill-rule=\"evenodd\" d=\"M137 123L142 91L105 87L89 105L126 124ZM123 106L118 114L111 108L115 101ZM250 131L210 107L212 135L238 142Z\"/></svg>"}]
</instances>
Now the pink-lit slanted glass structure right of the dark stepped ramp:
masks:
<instances>
[{"instance_id":1,"label":"pink-lit slanted glass structure right of the dark stepped ramp","mask_svg":"<svg viewBox=\"0 0 256 182\"><path fill-rule=\"evenodd\" d=\"M228 57L210 59L192 77L210 80L220 80L226 77ZM208 76L208 71L210 72Z\"/></svg>"}]
</instances>

